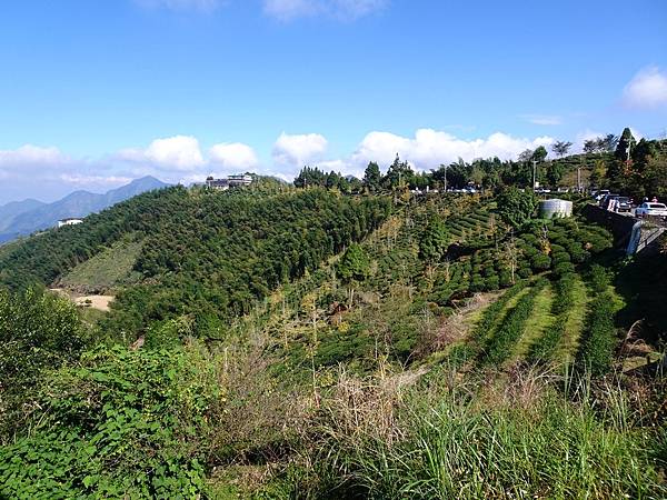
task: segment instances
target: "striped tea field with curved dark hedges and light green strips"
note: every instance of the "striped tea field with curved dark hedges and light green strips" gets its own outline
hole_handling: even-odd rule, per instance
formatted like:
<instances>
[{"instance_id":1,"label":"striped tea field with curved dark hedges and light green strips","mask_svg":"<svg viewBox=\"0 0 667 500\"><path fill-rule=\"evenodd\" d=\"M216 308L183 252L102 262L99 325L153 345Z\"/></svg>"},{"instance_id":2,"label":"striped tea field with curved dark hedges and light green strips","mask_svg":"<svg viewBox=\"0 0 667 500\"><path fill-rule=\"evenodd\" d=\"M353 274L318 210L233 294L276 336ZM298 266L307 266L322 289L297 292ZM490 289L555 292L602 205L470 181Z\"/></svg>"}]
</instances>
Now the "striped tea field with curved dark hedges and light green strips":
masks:
<instances>
[{"instance_id":1,"label":"striped tea field with curved dark hedges and light green strips","mask_svg":"<svg viewBox=\"0 0 667 500\"><path fill-rule=\"evenodd\" d=\"M577 361L605 372L618 344L611 323L618 299L607 287L611 309L603 308L589 299L590 287L576 272L521 280L477 313L466 339L449 348L450 360L500 369Z\"/></svg>"}]
</instances>

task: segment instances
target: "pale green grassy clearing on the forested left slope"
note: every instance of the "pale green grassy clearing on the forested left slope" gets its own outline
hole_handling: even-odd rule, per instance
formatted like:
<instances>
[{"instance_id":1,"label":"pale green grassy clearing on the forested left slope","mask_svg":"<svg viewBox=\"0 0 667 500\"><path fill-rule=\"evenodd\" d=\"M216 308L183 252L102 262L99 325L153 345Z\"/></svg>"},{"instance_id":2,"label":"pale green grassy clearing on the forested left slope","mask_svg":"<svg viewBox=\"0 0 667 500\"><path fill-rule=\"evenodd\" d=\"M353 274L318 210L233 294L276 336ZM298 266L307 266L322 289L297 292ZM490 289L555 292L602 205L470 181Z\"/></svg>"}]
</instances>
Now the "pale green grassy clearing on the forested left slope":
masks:
<instances>
[{"instance_id":1,"label":"pale green grassy clearing on the forested left slope","mask_svg":"<svg viewBox=\"0 0 667 500\"><path fill-rule=\"evenodd\" d=\"M132 268L142 246L143 242L136 237L117 241L76 266L58 280L58 284L73 291L101 292L136 283L141 274Z\"/></svg>"}]
</instances>

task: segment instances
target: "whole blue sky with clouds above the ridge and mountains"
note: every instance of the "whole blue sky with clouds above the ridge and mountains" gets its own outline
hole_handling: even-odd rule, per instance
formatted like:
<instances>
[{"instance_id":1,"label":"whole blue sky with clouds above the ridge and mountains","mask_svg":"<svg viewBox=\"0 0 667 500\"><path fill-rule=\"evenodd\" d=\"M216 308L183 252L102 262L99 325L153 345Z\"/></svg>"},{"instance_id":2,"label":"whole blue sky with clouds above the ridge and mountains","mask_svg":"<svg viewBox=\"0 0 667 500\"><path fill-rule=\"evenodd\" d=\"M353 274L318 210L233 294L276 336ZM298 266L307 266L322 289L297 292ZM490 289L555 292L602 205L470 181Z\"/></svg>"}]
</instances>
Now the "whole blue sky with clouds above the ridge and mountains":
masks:
<instances>
[{"instance_id":1,"label":"whole blue sky with clouds above the ridge and mountains","mask_svg":"<svg viewBox=\"0 0 667 500\"><path fill-rule=\"evenodd\" d=\"M667 3L6 1L0 68L0 203L396 152L429 169L665 133Z\"/></svg>"}]
</instances>

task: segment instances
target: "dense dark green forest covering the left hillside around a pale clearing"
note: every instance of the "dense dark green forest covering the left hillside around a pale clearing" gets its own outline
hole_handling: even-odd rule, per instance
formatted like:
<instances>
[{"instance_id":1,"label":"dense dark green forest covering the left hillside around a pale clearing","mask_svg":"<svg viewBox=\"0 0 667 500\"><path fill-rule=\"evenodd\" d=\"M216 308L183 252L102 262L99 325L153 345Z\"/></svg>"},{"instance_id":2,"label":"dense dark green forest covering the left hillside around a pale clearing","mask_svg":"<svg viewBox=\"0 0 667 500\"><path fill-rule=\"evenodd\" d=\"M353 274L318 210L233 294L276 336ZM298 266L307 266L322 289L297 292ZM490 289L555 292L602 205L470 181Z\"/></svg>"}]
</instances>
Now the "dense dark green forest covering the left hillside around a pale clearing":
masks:
<instances>
[{"instance_id":1,"label":"dense dark green forest covering the left hillside around a pale clearing","mask_svg":"<svg viewBox=\"0 0 667 500\"><path fill-rule=\"evenodd\" d=\"M142 283L118 294L109 329L136 332L188 313L200 324L226 321L361 240L390 211L387 199L323 189L171 188L92 216L84 227L28 240L3 257L0 279L10 288L48 286L103 244L137 232L143 244L135 271Z\"/></svg>"}]
</instances>

